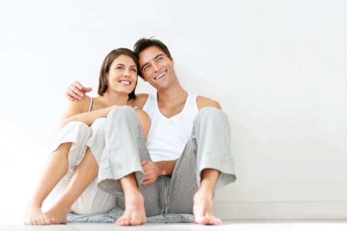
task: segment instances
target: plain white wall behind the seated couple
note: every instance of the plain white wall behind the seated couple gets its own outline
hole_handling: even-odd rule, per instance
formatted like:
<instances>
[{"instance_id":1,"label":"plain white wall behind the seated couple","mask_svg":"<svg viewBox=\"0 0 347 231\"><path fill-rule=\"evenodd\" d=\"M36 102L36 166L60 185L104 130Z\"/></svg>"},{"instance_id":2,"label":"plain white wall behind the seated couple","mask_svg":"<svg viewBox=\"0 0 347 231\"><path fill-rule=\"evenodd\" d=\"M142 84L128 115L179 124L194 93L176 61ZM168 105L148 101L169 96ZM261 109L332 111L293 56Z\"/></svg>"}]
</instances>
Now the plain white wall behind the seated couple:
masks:
<instances>
[{"instance_id":1,"label":"plain white wall behind the seated couple","mask_svg":"<svg viewBox=\"0 0 347 231\"><path fill-rule=\"evenodd\" d=\"M1 1L0 220L22 218L67 86L95 96L106 54L144 36L229 115L238 179L216 204L346 202L346 21L343 0Z\"/></svg>"}]
</instances>

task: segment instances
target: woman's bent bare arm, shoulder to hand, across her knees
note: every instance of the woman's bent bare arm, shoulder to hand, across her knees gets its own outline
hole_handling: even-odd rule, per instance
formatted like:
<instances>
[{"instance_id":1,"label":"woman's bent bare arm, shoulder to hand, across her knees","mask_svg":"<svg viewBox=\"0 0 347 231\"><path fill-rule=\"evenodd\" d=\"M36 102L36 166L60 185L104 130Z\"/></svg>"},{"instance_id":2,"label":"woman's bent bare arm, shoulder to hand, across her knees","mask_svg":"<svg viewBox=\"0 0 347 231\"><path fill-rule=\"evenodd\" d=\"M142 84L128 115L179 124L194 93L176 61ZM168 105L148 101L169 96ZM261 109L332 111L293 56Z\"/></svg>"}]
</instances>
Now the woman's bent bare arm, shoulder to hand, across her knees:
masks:
<instances>
[{"instance_id":1,"label":"woman's bent bare arm, shoulder to hand, across her knees","mask_svg":"<svg viewBox=\"0 0 347 231\"><path fill-rule=\"evenodd\" d=\"M67 112L63 115L60 126L63 127L70 121L81 121L90 126L95 119L106 117L107 114L114 108L119 106L111 106L104 109L88 112L90 105L90 97L85 96L80 101L72 101L69 104Z\"/></svg>"}]
</instances>

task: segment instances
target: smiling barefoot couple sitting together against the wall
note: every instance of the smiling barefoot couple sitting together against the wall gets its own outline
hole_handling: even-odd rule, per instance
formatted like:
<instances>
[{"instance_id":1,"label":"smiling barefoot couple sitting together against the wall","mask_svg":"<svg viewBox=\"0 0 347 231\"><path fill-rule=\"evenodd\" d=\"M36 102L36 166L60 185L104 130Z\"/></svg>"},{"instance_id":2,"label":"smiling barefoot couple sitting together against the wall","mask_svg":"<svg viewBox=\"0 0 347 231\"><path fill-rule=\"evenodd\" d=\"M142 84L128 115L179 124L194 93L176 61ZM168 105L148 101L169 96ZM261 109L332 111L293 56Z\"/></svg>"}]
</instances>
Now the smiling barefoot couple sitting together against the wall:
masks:
<instances>
[{"instance_id":1,"label":"smiling barefoot couple sitting together against the wall","mask_svg":"<svg viewBox=\"0 0 347 231\"><path fill-rule=\"evenodd\" d=\"M135 95L138 75L157 92ZM134 52L111 51L99 97L85 96L89 91L78 82L67 91L71 103L24 223L65 224L69 212L120 207L119 226L167 213L221 224L212 211L214 190L236 180L228 118L218 102L183 90L167 46L143 38ZM51 192L56 200L42 213Z\"/></svg>"}]
</instances>

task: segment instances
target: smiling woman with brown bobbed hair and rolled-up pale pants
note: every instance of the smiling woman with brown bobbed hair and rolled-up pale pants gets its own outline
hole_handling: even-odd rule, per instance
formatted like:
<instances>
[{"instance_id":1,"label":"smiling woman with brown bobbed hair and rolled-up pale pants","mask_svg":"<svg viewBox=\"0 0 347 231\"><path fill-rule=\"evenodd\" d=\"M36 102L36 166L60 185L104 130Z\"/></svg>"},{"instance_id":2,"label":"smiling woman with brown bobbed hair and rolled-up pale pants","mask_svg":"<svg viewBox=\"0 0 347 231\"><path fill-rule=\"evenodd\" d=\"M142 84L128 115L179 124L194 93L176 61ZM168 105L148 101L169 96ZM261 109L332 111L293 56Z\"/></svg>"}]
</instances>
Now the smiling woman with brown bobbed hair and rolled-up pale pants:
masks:
<instances>
[{"instance_id":1,"label":"smiling woman with brown bobbed hair and rolled-up pale pants","mask_svg":"<svg viewBox=\"0 0 347 231\"><path fill-rule=\"evenodd\" d=\"M111 51L102 64L99 77L99 97L84 97L70 103L62 118L54 151L24 218L26 225L64 224L67 214L96 214L117 206L116 198L97 188L99 161L108 113L120 106L130 106L135 99L138 60L126 48ZM135 108L136 109L136 108ZM150 118L137 109L146 139ZM54 189L60 194L52 207L42 213L43 201Z\"/></svg>"}]
</instances>

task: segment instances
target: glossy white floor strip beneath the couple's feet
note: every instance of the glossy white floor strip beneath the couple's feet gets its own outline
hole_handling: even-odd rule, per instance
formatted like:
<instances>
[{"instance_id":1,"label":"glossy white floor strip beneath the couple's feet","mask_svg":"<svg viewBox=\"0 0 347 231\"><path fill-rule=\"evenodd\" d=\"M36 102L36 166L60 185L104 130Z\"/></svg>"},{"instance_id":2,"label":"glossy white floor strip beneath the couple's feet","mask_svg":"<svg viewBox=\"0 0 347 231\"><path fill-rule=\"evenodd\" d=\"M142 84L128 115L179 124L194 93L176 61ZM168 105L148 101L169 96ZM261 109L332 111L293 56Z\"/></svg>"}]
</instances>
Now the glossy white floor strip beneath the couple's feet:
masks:
<instances>
[{"instance_id":1,"label":"glossy white floor strip beneath the couple's feet","mask_svg":"<svg viewBox=\"0 0 347 231\"><path fill-rule=\"evenodd\" d=\"M146 224L117 227L113 224L69 223L56 226L25 226L0 223L0 231L347 231L347 220L224 220L221 226Z\"/></svg>"}]
</instances>

